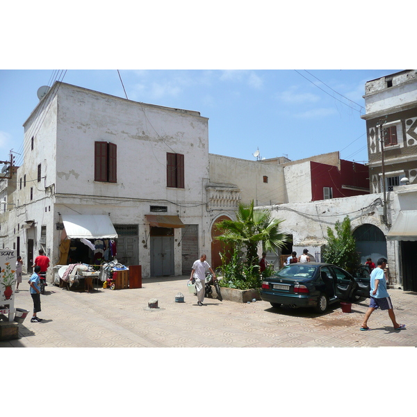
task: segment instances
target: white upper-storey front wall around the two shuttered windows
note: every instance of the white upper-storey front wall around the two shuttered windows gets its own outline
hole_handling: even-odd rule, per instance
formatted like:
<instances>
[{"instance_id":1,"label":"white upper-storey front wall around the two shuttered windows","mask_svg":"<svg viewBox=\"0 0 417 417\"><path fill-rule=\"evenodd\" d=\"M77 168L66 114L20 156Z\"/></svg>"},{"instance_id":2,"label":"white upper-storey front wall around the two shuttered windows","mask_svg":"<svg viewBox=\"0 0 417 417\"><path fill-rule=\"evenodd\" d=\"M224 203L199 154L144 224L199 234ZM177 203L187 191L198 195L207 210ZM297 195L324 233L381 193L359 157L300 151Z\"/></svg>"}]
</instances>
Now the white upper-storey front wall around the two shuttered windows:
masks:
<instances>
[{"instance_id":1,"label":"white upper-storey front wall around the two shuttered windows","mask_svg":"<svg viewBox=\"0 0 417 417\"><path fill-rule=\"evenodd\" d=\"M201 201L206 117L68 85L58 94L57 193ZM117 184L94 181L94 146L101 140L117 145ZM166 186L167 152L184 154L185 189Z\"/></svg>"}]
</instances>

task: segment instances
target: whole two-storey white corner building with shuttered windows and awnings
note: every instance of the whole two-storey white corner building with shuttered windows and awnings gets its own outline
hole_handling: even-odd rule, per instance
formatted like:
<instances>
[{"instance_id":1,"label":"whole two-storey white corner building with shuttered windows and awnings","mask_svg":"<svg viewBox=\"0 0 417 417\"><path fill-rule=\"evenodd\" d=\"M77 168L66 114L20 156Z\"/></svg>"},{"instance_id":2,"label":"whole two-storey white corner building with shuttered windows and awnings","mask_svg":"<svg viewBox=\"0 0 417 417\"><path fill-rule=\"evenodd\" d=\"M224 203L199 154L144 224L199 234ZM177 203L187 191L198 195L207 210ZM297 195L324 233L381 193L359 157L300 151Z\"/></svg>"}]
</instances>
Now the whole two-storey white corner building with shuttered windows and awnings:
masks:
<instances>
[{"instance_id":1,"label":"whole two-storey white corner building with shuttered windows and awnings","mask_svg":"<svg viewBox=\"0 0 417 417\"><path fill-rule=\"evenodd\" d=\"M54 264L62 252L65 263L91 263L99 254L82 237L115 238L117 260L142 265L143 277L209 258L208 119L197 111L55 83L24 122L13 179L0 243L17 246L26 265L40 248ZM94 236L83 236L85 222Z\"/></svg>"}]
</instances>

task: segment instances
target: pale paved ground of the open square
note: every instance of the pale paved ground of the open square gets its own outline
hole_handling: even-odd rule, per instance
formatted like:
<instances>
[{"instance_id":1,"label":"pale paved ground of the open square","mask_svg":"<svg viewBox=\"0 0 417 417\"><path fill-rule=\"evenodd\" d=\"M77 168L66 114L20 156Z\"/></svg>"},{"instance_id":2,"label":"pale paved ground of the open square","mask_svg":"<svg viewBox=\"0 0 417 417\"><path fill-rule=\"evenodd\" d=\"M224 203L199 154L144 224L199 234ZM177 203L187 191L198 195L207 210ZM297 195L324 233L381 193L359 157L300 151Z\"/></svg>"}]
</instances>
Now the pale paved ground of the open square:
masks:
<instances>
[{"instance_id":1,"label":"pale paved ground of the open square","mask_svg":"<svg viewBox=\"0 0 417 417\"><path fill-rule=\"evenodd\" d=\"M239 304L188 293L188 277L144 279L142 288L92 293L52 284L42 295L42 322L31 313L19 325L17 340L0 347L393 347L417 345L417 293L391 289L395 315L407 329L394 331L386 311L375 311L359 327L368 300L343 313L338 304L323 315L310 309L273 309L258 301ZM185 302L175 302L177 293ZM149 309L150 299L158 309ZM32 311L27 277L15 307Z\"/></svg>"}]
</instances>

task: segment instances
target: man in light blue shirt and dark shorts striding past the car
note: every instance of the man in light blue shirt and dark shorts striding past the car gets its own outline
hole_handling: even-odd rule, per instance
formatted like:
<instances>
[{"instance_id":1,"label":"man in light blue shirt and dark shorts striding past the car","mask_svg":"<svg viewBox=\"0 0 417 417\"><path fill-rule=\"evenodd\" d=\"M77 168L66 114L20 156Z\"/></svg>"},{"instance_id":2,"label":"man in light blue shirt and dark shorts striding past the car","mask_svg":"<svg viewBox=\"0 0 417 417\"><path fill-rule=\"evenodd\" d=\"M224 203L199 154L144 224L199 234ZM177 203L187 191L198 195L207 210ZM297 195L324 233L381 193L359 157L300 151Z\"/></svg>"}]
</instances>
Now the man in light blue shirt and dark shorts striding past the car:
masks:
<instances>
[{"instance_id":1,"label":"man in light blue shirt and dark shorts striding past the car","mask_svg":"<svg viewBox=\"0 0 417 417\"><path fill-rule=\"evenodd\" d=\"M369 309L365 313L361 330L369 330L368 318L376 309L388 310L389 318L393 322L394 330L405 329L405 325L399 325L395 320L393 304L389 294L386 292L386 281L384 270L386 267L386 259L379 258L377 268L373 269L370 274L370 303Z\"/></svg>"}]
</instances>

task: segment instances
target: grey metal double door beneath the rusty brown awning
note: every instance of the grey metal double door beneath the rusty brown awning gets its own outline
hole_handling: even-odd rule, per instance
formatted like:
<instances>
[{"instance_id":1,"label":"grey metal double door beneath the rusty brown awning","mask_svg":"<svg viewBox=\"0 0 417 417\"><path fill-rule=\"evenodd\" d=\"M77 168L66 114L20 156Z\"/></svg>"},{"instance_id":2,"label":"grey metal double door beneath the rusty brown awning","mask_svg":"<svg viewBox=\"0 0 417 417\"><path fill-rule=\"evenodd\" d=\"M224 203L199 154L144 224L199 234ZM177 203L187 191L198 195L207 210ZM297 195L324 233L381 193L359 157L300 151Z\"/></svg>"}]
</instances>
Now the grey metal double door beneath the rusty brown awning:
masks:
<instances>
[{"instance_id":1,"label":"grey metal double door beneath the rusty brown awning","mask_svg":"<svg viewBox=\"0 0 417 417\"><path fill-rule=\"evenodd\" d=\"M174 229L151 227L151 276L174 275Z\"/></svg>"}]
</instances>

